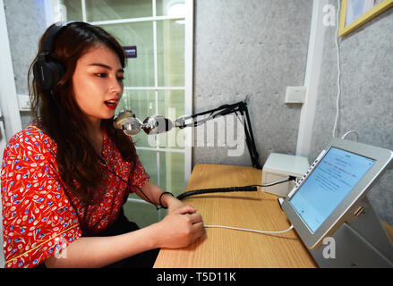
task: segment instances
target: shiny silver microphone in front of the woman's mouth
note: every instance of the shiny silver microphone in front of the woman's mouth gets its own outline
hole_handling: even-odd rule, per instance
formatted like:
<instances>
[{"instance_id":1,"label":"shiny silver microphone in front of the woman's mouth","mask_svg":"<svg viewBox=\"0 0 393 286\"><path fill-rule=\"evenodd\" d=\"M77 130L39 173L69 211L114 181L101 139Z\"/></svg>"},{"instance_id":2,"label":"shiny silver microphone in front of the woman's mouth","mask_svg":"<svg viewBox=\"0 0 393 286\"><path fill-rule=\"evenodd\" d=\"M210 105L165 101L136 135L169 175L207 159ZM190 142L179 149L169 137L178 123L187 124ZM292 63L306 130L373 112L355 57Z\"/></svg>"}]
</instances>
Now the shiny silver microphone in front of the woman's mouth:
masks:
<instances>
[{"instance_id":1,"label":"shiny silver microphone in front of the woman's mouth","mask_svg":"<svg viewBox=\"0 0 393 286\"><path fill-rule=\"evenodd\" d=\"M124 131L127 136L137 135L141 129L148 135L156 135L158 133L165 133L172 129L172 122L161 115L154 115L146 117L141 122L132 114L131 110L122 110L114 117L114 126L116 129Z\"/></svg>"}]
</instances>

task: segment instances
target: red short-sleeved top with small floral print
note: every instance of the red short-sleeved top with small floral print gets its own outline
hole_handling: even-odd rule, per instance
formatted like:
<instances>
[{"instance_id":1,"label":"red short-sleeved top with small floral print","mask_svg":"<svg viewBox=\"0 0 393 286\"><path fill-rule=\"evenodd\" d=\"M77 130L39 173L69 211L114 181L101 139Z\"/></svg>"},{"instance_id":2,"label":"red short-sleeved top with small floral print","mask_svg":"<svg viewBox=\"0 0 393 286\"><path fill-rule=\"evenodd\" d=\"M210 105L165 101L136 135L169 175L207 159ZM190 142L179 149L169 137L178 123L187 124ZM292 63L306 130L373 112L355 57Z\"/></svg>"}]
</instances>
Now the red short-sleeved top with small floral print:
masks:
<instances>
[{"instance_id":1,"label":"red short-sleeved top with small floral print","mask_svg":"<svg viewBox=\"0 0 393 286\"><path fill-rule=\"evenodd\" d=\"M131 172L105 131L101 156L132 185L141 188L150 179L139 160ZM97 193L104 195L86 205L60 179L56 142L32 125L15 134L4 149L1 172L5 267L37 266L79 237L114 223L135 187L108 171L98 180Z\"/></svg>"}]
</instances>

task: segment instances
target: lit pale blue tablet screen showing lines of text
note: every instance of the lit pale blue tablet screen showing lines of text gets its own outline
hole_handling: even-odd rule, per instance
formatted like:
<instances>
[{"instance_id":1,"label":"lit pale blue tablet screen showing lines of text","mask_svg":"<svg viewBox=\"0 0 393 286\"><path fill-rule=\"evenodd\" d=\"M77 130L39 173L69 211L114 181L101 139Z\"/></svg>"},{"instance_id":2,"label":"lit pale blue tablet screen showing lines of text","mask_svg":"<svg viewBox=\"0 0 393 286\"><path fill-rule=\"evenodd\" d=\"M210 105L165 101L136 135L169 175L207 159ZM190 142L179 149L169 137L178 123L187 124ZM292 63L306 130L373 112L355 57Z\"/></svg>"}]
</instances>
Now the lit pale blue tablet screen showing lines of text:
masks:
<instances>
[{"instance_id":1,"label":"lit pale blue tablet screen showing lines of text","mask_svg":"<svg viewBox=\"0 0 393 286\"><path fill-rule=\"evenodd\" d=\"M330 147L289 203L314 233L374 163L370 158Z\"/></svg>"}]
</instances>

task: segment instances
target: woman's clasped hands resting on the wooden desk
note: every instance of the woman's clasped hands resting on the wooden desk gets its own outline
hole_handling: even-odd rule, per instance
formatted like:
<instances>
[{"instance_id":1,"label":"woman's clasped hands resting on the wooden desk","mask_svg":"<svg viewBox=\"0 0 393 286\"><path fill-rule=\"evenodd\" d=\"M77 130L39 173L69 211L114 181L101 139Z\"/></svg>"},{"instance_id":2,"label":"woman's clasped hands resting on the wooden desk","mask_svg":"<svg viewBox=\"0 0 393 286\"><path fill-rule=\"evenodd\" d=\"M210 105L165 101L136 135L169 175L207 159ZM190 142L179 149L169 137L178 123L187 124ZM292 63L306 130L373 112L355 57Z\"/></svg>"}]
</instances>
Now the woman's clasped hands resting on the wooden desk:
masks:
<instances>
[{"instance_id":1,"label":"woman's clasped hands resting on the wooden desk","mask_svg":"<svg viewBox=\"0 0 393 286\"><path fill-rule=\"evenodd\" d=\"M159 248L184 248L205 234L201 214L188 205L175 204L156 227Z\"/></svg>"}]
</instances>

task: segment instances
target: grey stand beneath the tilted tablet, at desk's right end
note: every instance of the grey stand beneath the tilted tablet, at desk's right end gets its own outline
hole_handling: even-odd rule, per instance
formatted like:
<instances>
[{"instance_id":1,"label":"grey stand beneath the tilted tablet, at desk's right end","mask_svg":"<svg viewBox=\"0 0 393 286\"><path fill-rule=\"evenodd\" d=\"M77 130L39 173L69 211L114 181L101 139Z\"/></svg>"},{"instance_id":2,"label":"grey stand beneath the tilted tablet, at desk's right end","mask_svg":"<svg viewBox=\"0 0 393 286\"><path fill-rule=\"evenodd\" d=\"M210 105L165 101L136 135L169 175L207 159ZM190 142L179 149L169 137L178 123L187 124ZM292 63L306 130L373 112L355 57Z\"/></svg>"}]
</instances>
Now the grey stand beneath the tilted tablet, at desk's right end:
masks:
<instances>
[{"instance_id":1,"label":"grey stand beneath the tilted tablet, at desk's right end","mask_svg":"<svg viewBox=\"0 0 393 286\"><path fill-rule=\"evenodd\" d=\"M343 223L333 235L334 240L309 249L320 267L393 267L393 244L388 234L366 197L361 206L363 214L354 222ZM334 241L334 246L329 241Z\"/></svg>"}]
</instances>

